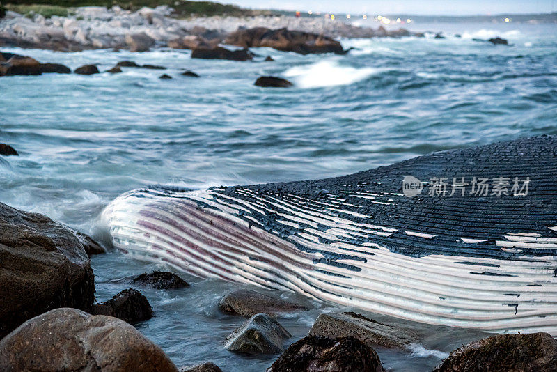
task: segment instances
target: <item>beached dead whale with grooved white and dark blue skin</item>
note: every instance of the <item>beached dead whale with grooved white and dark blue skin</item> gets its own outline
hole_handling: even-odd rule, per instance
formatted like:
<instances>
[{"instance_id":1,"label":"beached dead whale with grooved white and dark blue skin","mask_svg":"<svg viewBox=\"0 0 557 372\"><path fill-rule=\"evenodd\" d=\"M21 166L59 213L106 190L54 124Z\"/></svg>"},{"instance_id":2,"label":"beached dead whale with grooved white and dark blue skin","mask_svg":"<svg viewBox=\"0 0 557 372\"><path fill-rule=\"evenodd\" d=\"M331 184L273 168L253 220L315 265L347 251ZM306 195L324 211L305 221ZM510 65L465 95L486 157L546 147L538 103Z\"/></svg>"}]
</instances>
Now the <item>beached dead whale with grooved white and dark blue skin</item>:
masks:
<instances>
[{"instance_id":1,"label":"beached dead whale with grooved white and dark blue skin","mask_svg":"<svg viewBox=\"0 0 557 372\"><path fill-rule=\"evenodd\" d=\"M198 277L557 336L557 136L322 180L136 189L102 219L125 254Z\"/></svg>"}]
</instances>

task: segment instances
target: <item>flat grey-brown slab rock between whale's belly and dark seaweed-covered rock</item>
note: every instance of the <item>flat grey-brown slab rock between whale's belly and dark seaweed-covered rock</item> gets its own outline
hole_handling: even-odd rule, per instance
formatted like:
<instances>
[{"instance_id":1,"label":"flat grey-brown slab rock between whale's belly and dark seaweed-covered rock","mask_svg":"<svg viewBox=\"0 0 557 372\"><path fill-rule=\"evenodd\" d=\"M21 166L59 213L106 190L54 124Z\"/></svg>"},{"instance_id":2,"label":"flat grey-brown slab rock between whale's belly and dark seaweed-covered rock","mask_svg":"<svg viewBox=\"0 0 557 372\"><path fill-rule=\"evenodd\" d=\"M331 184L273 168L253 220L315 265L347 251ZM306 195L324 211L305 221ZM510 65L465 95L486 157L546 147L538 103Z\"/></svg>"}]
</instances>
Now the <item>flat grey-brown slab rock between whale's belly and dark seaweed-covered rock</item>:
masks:
<instances>
[{"instance_id":1,"label":"flat grey-brown slab rock between whale's belly and dark seaweed-covered rock","mask_svg":"<svg viewBox=\"0 0 557 372\"><path fill-rule=\"evenodd\" d=\"M399 327L384 325L356 313L321 314L308 334L330 338L353 336L368 346L385 348L404 348L417 341L416 336Z\"/></svg>"}]
</instances>

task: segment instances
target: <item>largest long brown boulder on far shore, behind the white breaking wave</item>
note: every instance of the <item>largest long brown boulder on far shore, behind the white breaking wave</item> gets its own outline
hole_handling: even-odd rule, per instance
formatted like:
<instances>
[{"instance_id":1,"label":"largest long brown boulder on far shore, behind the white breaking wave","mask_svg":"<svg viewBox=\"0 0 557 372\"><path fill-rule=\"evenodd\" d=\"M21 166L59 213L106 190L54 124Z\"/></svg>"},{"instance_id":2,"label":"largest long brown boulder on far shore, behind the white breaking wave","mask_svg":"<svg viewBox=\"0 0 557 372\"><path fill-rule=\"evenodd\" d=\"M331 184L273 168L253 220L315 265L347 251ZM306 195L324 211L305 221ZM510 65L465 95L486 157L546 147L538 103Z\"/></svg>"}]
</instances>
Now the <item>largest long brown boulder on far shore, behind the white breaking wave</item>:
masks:
<instances>
[{"instance_id":1,"label":"largest long brown boulder on far shore, behind the white breaking wave","mask_svg":"<svg viewBox=\"0 0 557 372\"><path fill-rule=\"evenodd\" d=\"M224 42L239 47L271 47L284 52L299 54L336 53L345 54L340 42L317 33L291 31L288 29L271 30L265 27L238 29L230 33Z\"/></svg>"}]
</instances>

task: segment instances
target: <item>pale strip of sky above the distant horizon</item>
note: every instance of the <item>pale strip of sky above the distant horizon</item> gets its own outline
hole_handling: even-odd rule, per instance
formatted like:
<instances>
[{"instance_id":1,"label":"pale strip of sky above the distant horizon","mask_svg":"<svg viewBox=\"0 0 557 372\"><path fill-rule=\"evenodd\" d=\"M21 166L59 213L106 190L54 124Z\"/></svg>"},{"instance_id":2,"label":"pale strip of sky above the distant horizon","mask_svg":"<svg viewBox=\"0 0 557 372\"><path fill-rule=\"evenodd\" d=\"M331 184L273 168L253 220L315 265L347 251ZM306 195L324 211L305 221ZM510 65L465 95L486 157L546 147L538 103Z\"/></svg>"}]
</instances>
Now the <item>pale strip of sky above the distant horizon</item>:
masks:
<instances>
[{"instance_id":1,"label":"pale strip of sky above the distant horizon","mask_svg":"<svg viewBox=\"0 0 557 372\"><path fill-rule=\"evenodd\" d=\"M354 14L496 15L501 13L549 13L557 0L217 0L244 8L312 10Z\"/></svg>"}]
</instances>

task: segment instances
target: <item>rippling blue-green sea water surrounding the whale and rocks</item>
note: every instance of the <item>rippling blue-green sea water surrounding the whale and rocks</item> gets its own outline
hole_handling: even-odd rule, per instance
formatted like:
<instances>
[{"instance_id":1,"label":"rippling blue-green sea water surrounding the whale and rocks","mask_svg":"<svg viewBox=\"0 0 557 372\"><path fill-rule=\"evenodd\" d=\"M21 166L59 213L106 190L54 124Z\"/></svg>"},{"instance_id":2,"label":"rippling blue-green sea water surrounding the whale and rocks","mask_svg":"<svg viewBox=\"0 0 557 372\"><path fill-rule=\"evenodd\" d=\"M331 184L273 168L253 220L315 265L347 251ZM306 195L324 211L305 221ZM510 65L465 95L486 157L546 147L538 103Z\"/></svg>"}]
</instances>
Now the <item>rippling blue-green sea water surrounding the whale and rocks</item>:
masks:
<instances>
[{"instance_id":1,"label":"rippling blue-green sea water surrounding the whale and rocks","mask_svg":"<svg viewBox=\"0 0 557 372\"><path fill-rule=\"evenodd\" d=\"M187 50L75 53L2 48L74 69L118 61L163 65L118 75L0 78L0 201L42 212L108 243L100 212L118 194L146 185L204 188L342 176L437 150L557 134L556 24L411 24L427 38L342 40L345 56L253 49L252 62L191 59ZM445 39L432 35L444 31ZM460 34L460 38L455 34ZM501 36L510 46L473 41ZM274 62L263 62L265 56ZM193 70L199 78L180 75ZM166 73L173 79L159 79ZM260 88L261 75L293 88ZM97 300L159 268L117 252L95 256ZM223 348L243 318L219 313L237 284L183 274L191 287L141 288L156 317L137 327L175 364L212 361L223 371L265 371L277 355L243 357ZM292 294L283 293L283 297ZM299 299L304 300L304 299ZM281 319L304 336L322 311ZM341 309L345 311L346 309ZM386 317L372 318L388 321ZM405 325L400 320L389 320ZM391 371L427 371L469 330L414 325L409 350L378 349Z\"/></svg>"}]
</instances>

